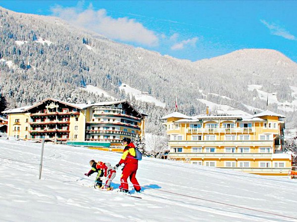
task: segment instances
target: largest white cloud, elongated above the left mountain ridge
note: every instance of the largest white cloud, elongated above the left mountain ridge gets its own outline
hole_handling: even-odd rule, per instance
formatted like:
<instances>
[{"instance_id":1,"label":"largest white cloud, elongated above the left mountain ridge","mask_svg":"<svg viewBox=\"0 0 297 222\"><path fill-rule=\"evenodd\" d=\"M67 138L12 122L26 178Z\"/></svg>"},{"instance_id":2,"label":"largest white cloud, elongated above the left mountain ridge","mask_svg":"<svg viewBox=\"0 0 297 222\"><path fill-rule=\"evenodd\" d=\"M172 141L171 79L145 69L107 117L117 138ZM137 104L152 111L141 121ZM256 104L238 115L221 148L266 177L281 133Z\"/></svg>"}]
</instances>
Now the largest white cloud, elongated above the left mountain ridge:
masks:
<instances>
[{"instance_id":1,"label":"largest white cloud, elongated above the left mountain ridge","mask_svg":"<svg viewBox=\"0 0 297 222\"><path fill-rule=\"evenodd\" d=\"M69 8L58 5L52 8L51 11L54 16L111 39L135 42L147 46L158 45L159 39L153 31L148 30L135 19L126 17L115 19L107 16L105 9L96 11L92 5L86 10L83 10L81 5Z\"/></svg>"}]
</instances>

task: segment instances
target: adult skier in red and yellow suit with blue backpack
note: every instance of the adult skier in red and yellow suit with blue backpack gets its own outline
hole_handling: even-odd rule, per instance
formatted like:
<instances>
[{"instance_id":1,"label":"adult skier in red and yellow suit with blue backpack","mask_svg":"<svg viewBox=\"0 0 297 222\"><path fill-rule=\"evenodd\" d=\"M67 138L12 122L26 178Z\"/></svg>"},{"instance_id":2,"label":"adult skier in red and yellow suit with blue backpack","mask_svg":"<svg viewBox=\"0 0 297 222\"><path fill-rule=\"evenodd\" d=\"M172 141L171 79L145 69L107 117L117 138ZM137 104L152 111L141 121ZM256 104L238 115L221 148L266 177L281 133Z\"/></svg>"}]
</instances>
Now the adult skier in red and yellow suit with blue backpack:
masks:
<instances>
[{"instance_id":1,"label":"adult skier in red and yellow suit with blue backpack","mask_svg":"<svg viewBox=\"0 0 297 222\"><path fill-rule=\"evenodd\" d=\"M122 140L124 146L123 155L118 164L115 165L114 169L117 169L122 163L124 168L122 169L121 185L119 186L121 192L128 192L128 177L134 186L136 192L141 192L141 186L136 179L136 172L138 169L138 159L136 159L135 146L131 143L130 138L124 138Z\"/></svg>"}]
</instances>

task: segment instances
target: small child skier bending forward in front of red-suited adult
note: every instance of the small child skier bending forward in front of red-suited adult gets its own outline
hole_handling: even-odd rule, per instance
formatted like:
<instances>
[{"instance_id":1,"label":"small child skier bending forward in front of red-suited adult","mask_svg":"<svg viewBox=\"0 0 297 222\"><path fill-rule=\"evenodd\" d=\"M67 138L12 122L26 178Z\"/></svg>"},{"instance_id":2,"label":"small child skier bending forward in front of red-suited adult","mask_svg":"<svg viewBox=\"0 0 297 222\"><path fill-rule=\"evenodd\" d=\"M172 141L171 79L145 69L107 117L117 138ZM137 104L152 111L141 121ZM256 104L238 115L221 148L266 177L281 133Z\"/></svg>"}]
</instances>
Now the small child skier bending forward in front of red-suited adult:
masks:
<instances>
[{"instance_id":1,"label":"small child skier bending forward in front of red-suited adult","mask_svg":"<svg viewBox=\"0 0 297 222\"><path fill-rule=\"evenodd\" d=\"M110 184L111 181L114 179L115 175L116 175L116 171L114 170L113 167L111 167L110 163L103 163L101 161L99 162L95 162L95 160L90 160L90 166L92 167L92 169L86 173L85 175L90 177L90 175L92 175L93 173L97 172L97 177L95 180L95 187L101 187L104 189L111 189ZM106 182L104 187L102 186L102 177L106 178Z\"/></svg>"}]
</instances>

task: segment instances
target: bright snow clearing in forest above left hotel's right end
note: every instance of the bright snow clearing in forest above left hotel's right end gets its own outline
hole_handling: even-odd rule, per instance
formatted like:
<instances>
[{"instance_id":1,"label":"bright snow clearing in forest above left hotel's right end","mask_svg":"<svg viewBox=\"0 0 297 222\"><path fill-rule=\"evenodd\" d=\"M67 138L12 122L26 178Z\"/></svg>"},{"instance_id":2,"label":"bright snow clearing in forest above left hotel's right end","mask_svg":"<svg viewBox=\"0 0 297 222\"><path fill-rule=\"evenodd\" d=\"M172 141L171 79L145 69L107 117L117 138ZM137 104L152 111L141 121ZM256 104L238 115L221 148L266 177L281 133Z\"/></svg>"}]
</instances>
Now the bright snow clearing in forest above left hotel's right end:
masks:
<instances>
[{"instance_id":1,"label":"bright snow clearing in forest above left hotel's right end","mask_svg":"<svg viewBox=\"0 0 297 222\"><path fill-rule=\"evenodd\" d=\"M136 100L140 100L147 103L154 103L156 106L165 108L166 104L162 103L161 101L157 100L156 98L142 92L138 89L132 88L131 86L123 83L120 87L120 90L124 90L126 94L133 95Z\"/></svg>"}]
</instances>

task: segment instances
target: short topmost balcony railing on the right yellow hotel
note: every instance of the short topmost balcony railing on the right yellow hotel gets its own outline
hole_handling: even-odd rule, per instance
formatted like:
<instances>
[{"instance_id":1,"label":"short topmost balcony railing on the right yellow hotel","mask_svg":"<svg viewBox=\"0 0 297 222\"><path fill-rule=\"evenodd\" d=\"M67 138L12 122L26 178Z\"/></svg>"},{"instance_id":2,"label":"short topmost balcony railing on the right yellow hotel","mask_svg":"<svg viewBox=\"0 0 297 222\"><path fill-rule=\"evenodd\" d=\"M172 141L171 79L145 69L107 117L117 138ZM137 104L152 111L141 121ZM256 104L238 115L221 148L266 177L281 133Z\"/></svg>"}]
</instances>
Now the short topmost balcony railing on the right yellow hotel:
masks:
<instances>
[{"instance_id":1,"label":"short topmost balcony railing on the right yellow hotel","mask_svg":"<svg viewBox=\"0 0 297 222\"><path fill-rule=\"evenodd\" d=\"M187 128L187 133L253 133L254 127L236 127L236 128Z\"/></svg>"}]
</instances>

